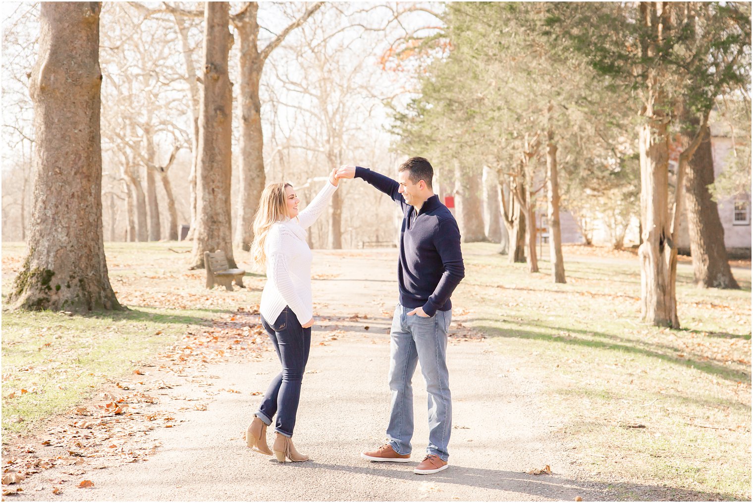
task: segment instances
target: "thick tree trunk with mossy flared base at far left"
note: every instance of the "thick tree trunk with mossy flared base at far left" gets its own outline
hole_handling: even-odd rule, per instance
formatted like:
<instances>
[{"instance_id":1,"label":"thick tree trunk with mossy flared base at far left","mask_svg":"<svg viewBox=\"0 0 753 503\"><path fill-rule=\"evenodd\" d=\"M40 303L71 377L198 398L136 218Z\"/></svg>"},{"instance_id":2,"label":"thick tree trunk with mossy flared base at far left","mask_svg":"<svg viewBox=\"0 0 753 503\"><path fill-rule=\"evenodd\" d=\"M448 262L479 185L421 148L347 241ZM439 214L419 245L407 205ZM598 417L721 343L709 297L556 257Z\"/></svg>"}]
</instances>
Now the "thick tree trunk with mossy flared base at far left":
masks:
<instances>
[{"instance_id":1,"label":"thick tree trunk with mossy flared base at far left","mask_svg":"<svg viewBox=\"0 0 753 503\"><path fill-rule=\"evenodd\" d=\"M98 2L42 3L34 104L34 206L17 309L121 309L102 237Z\"/></svg>"}]
</instances>

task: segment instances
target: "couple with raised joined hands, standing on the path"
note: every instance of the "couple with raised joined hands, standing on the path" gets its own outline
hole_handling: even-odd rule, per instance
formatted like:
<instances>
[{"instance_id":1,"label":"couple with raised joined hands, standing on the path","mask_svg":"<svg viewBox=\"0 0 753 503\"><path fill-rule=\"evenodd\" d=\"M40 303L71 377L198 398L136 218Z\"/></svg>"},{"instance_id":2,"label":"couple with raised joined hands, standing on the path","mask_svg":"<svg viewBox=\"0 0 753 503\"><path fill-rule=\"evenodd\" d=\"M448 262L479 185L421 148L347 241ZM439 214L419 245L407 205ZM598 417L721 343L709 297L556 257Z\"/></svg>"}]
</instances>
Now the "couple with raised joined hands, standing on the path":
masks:
<instances>
[{"instance_id":1,"label":"couple with raised joined hands, standing on the path","mask_svg":"<svg viewBox=\"0 0 753 503\"><path fill-rule=\"evenodd\" d=\"M311 345L311 250L306 228L326 208L342 178L361 178L401 206L398 285L400 301L392 318L389 389L392 404L387 443L361 453L374 462L410 462L413 437L411 381L420 361L428 392L429 443L426 456L413 470L433 474L447 468L452 428L447 331L450 295L465 276L460 232L455 218L431 188L434 170L423 157L411 157L398 169L398 181L360 166L333 169L322 191L303 211L291 184L264 188L254 220L252 258L267 270L261 294L261 323L270 334L282 371L273 378L245 433L248 447L274 455L279 462L303 462L292 441L300 385ZM267 426L275 422L272 450Z\"/></svg>"}]
</instances>

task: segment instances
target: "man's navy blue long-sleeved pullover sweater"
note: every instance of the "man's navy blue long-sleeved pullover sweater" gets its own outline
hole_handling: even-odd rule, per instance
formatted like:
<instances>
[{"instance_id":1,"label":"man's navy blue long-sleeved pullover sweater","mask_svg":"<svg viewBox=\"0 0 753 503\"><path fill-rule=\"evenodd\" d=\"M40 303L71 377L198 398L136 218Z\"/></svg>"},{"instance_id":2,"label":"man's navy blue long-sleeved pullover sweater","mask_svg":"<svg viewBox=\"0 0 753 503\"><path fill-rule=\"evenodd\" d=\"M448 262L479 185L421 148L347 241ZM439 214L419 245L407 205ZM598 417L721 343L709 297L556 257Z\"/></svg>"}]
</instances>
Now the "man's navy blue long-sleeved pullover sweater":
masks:
<instances>
[{"instance_id":1,"label":"man's navy blue long-sleeved pullover sweater","mask_svg":"<svg viewBox=\"0 0 753 503\"><path fill-rule=\"evenodd\" d=\"M403 209L398 264L400 303L410 309L422 307L428 316L450 309L450 295L465 276L460 230L453 214L434 195L423 203L416 216L416 210L398 192L397 181L361 166L355 167L355 176L392 197Z\"/></svg>"}]
</instances>

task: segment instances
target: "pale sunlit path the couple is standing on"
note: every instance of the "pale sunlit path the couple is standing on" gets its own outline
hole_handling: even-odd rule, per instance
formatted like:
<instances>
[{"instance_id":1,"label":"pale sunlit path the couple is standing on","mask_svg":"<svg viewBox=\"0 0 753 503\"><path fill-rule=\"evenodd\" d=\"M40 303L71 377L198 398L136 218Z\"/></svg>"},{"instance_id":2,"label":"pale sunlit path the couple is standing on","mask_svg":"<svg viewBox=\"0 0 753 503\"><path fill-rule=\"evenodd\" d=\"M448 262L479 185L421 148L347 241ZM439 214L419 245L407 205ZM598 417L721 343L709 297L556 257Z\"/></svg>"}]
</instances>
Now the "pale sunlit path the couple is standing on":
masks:
<instances>
[{"instance_id":1,"label":"pale sunlit path the couple is standing on","mask_svg":"<svg viewBox=\"0 0 753 503\"><path fill-rule=\"evenodd\" d=\"M541 384L527 380L514 362L479 340L453 341L448 349L453 392L450 468L413 474L428 440L426 393L414 376L416 433L410 463L373 463L361 450L383 443L389 414L389 325L397 298L394 251L315 252L313 285L320 324L295 432L296 446L312 461L281 465L245 447L245 430L279 362L273 352L257 361L230 361L204 370L217 376L220 393L206 411L188 410L175 428L149 434L162 447L148 461L90 471L91 489L34 492L55 477L53 468L27 480L11 500L48 501L434 501L584 500L604 498L603 488L571 480L553 435L556 419L537 404ZM462 306L456 306L462 311ZM353 315L360 318L355 319ZM363 316L367 318L363 318ZM462 316L453 319L462 322ZM368 327L368 329L366 329ZM332 336L337 339L332 339ZM320 344L321 343L321 344ZM273 358L274 357L274 358ZM198 393L190 380L183 395ZM196 388L194 385L193 388ZM171 390L172 391L172 390ZM273 433L268 434L269 443ZM551 465L552 475L529 475ZM59 476L59 474L58 474ZM70 478L70 477L69 477Z\"/></svg>"}]
</instances>

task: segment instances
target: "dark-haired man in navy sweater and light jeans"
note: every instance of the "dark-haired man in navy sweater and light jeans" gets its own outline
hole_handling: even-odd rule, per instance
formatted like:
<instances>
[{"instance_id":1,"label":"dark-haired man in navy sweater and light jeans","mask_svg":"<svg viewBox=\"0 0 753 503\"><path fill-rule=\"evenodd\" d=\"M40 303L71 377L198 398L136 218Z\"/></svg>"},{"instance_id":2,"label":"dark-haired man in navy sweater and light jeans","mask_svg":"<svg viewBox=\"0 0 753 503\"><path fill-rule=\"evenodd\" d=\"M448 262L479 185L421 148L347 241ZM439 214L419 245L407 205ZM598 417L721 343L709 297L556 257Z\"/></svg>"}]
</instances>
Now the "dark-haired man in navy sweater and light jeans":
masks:
<instances>
[{"instance_id":1,"label":"dark-haired man in navy sweater and light jeans","mask_svg":"<svg viewBox=\"0 0 753 503\"><path fill-rule=\"evenodd\" d=\"M423 157L405 161L398 170L398 181L360 166L340 166L337 170L338 178L363 178L392 197L404 212L398 264L400 303L392 318L390 341L389 443L361 453L361 457L377 462L410 461L411 381L420 361L428 392L429 443L427 456L413 470L416 474L434 474L447 468L453 413L446 361L450 295L465 276L458 224L434 195L433 176L434 169Z\"/></svg>"}]
</instances>

